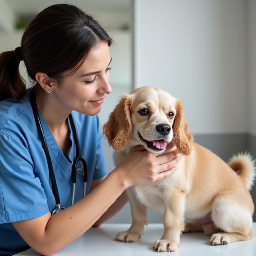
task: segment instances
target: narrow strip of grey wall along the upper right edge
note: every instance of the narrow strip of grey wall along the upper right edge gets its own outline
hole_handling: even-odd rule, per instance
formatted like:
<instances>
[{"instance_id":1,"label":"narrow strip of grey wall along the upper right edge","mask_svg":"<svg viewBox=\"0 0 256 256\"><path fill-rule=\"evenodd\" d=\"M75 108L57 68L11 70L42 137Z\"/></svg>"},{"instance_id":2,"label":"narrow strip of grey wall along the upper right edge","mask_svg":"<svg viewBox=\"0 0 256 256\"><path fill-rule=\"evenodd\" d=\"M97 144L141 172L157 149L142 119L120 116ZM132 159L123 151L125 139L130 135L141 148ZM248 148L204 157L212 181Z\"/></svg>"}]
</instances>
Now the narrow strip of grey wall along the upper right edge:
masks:
<instances>
[{"instance_id":1,"label":"narrow strip of grey wall along the upper right edge","mask_svg":"<svg viewBox=\"0 0 256 256\"><path fill-rule=\"evenodd\" d=\"M256 1L248 1L248 132L256 136Z\"/></svg>"}]
</instances>

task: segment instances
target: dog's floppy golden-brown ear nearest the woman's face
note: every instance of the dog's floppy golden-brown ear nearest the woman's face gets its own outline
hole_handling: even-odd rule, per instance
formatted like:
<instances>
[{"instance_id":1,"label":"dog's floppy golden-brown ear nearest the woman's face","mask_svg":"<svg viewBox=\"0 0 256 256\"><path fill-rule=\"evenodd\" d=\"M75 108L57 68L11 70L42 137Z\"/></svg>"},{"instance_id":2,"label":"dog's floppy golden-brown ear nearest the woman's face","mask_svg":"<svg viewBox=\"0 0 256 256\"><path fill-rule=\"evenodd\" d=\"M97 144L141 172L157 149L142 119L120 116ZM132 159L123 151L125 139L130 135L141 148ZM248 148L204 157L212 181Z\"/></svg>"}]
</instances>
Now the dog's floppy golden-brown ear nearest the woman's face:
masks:
<instances>
[{"instance_id":1,"label":"dog's floppy golden-brown ear nearest the woman's face","mask_svg":"<svg viewBox=\"0 0 256 256\"><path fill-rule=\"evenodd\" d=\"M107 138L108 143L116 151L123 150L131 139L131 103L132 96L124 93L110 114L108 122L103 125L103 134Z\"/></svg>"}]
</instances>

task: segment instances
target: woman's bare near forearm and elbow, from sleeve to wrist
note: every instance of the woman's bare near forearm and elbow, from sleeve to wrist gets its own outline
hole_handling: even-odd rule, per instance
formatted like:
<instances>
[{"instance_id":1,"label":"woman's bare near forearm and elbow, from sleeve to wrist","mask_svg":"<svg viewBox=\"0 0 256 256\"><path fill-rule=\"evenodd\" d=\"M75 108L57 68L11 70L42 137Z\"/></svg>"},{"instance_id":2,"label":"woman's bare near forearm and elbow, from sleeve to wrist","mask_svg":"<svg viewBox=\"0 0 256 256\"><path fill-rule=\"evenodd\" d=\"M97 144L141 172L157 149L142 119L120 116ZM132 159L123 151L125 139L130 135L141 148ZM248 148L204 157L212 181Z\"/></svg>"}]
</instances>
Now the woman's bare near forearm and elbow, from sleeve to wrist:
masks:
<instances>
[{"instance_id":1,"label":"woman's bare near forearm and elbow, from sleeve to wrist","mask_svg":"<svg viewBox=\"0 0 256 256\"><path fill-rule=\"evenodd\" d=\"M114 169L88 195L58 214L51 216L48 212L12 224L36 252L52 255L92 227L124 192L127 185L119 173Z\"/></svg>"}]
</instances>

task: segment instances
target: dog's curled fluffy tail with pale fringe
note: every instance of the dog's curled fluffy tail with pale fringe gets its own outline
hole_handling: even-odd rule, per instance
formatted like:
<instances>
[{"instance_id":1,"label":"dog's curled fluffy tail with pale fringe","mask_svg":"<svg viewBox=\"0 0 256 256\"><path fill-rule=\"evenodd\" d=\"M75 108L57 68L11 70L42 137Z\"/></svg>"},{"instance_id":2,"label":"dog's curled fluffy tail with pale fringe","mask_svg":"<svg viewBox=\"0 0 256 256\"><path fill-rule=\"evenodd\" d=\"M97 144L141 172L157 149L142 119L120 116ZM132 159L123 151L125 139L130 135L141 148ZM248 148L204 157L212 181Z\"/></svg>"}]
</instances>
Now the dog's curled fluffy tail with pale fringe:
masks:
<instances>
[{"instance_id":1,"label":"dog's curled fluffy tail with pale fringe","mask_svg":"<svg viewBox=\"0 0 256 256\"><path fill-rule=\"evenodd\" d=\"M238 172L239 177L243 180L245 186L250 190L255 180L256 166L255 159L249 152L238 153L230 158L228 165Z\"/></svg>"}]
</instances>

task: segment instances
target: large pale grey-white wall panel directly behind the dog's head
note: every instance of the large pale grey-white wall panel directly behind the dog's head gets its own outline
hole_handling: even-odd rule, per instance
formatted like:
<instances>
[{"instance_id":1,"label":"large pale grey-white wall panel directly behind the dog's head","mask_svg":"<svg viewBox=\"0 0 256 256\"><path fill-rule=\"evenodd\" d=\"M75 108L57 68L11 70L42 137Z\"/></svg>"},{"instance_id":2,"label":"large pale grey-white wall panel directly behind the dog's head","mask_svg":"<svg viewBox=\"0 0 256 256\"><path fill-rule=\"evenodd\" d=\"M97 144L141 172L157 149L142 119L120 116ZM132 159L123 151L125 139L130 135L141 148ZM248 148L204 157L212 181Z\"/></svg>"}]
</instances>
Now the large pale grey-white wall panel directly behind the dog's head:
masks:
<instances>
[{"instance_id":1,"label":"large pale grey-white wall panel directly behind the dog's head","mask_svg":"<svg viewBox=\"0 0 256 256\"><path fill-rule=\"evenodd\" d=\"M134 0L135 87L182 99L194 134L247 132L246 4Z\"/></svg>"}]
</instances>

